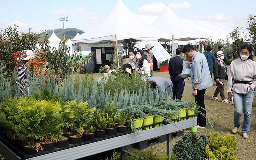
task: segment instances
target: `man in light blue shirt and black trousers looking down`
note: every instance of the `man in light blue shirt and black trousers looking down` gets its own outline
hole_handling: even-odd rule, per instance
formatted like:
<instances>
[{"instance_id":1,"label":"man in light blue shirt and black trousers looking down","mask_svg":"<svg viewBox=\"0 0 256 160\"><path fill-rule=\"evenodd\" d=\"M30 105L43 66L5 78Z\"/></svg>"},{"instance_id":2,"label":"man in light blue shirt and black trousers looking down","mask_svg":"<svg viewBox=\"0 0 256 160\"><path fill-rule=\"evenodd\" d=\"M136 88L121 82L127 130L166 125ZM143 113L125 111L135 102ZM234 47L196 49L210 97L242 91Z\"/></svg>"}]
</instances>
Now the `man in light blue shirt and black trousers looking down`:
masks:
<instances>
[{"instance_id":1,"label":"man in light blue shirt and black trousers looking down","mask_svg":"<svg viewBox=\"0 0 256 160\"><path fill-rule=\"evenodd\" d=\"M192 57L191 65L191 82L193 91L192 94L195 96L195 101L199 108L198 114L198 128L205 128L206 125L206 111L204 104L204 94L205 90L212 86L212 78L210 77L210 71L207 63L206 57L200 53L196 52L194 47L187 44L183 47L183 52L186 56Z\"/></svg>"}]
</instances>

